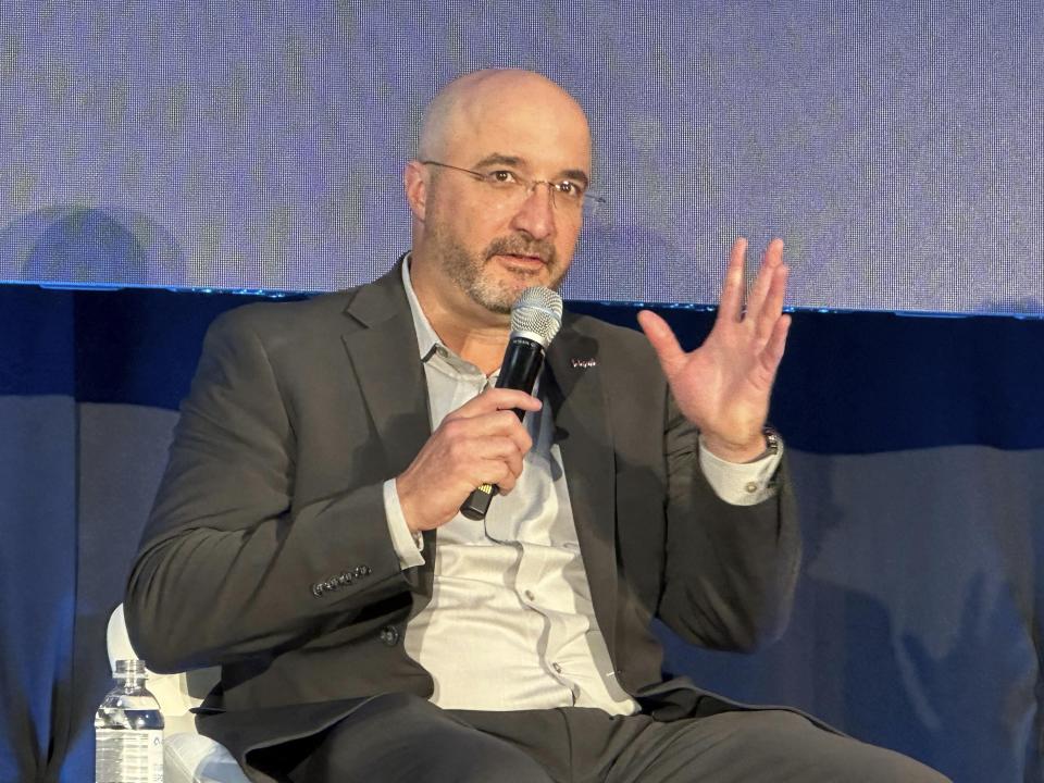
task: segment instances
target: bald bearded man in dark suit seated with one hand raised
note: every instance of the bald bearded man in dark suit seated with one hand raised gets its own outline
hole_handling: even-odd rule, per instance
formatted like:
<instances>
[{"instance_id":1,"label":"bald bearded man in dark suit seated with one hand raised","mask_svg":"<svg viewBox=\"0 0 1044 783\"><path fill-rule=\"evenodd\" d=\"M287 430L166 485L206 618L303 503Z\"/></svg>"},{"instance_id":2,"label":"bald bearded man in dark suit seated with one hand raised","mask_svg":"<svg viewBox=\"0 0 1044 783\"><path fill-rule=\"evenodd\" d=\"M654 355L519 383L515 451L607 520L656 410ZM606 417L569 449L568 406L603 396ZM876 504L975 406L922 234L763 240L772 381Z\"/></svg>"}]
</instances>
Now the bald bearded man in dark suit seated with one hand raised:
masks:
<instances>
[{"instance_id":1,"label":"bald bearded man in dark suit seated with one hand raised","mask_svg":"<svg viewBox=\"0 0 1044 783\"><path fill-rule=\"evenodd\" d=\"M221 663L199 726L258 781L941 780L661 682L654 616L726 648L786 622L799 536L765 434L786 266L775 240L744 303L737 241L696 351L649 312L647 340L567 316L535 396L492 388L589 178L560 87L470 74L406 169L399 266L215 323L127 591L136 648ZM485 483L485 522L459 515Z\"/></svg>"}]
</instances>

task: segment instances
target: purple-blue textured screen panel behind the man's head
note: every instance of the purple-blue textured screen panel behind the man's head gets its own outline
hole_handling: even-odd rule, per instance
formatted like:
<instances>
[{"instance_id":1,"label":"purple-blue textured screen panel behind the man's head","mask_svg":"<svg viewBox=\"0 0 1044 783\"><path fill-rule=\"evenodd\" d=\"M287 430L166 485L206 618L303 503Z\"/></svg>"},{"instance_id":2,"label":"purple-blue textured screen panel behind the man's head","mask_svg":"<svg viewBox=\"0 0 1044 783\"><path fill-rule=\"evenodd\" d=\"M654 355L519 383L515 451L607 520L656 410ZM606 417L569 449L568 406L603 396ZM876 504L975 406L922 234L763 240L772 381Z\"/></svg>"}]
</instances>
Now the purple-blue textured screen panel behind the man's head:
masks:
<instances>
[{"instance_id":1,"label":"purple-blue textured screen panel behind the man's head","mask_svg":"<svg viewBox=\"0 0 1044 783\"><path fill-rule=\"evenodd\" d=\"M370 279L419 107L496 65L592 119L569 297L712 302L779 234L794 306L1044 314L1035 0L0 0L0 279Z\"/></svg>"}]
</instances>

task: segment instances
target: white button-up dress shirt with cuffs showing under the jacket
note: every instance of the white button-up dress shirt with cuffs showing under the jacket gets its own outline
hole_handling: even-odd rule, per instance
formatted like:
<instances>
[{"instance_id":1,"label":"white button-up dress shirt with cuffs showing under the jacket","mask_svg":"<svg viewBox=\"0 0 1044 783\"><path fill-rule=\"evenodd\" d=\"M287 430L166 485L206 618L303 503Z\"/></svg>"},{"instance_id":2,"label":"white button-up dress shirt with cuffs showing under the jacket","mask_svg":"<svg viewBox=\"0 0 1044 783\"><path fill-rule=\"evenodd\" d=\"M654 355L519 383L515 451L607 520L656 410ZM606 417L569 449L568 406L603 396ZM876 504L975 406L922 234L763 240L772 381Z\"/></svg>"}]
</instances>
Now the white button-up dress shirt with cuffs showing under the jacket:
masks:
<instances>
[{"instance_id":1,"label":"white button-up dress shirt with cuffs showing under the jacket","mask_svg":"<svg viewBox=\"0 0 1044 783\"><path fill-rule=\"evenodd\" d=\"M499 371L486 377L443 345L413 293L409 259L402 279L434 430L496 385ZM523 422L533 448L514 489L495 498L485 522L457 514L438 529L432 597L407 624L405 648L431 673L431 700L439 707L598 707L630 714L637 704L617 682L595 619L550 406L544 401ZM737 465L700 447L708 482L729 502L769 497L779 460L775 455ZM394 478L384 485L384 500L402 568L422 564L422 539L406 524Z\"/></svg>"}]
</instances>

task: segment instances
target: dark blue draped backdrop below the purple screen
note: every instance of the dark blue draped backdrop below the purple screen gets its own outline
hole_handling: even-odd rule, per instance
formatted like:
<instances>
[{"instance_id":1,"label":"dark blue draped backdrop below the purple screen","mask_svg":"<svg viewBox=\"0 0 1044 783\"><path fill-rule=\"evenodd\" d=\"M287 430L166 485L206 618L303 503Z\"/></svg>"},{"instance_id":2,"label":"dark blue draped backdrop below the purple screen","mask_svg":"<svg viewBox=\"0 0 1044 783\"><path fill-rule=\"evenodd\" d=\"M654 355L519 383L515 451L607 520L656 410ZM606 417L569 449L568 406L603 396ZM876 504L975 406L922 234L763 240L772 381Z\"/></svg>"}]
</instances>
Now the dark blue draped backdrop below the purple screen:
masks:
<instances>
[{"instance_id":1,"label":"dark blue draped backdrop below the purple screen","mask_svg":"<svg viewBox=\"0 0 1044 783\"><path fill-rule=\"evenodd\" d=\"M104 625L175 407L207 324L249 299L0 287L0 781L90 780ZM711 318L661 312L688 345ZM753 656L664 632L669 668L958 783L1044 781L1042 341L1041 321L796 313L772 411L806 539L791 629Z\"/></svg>"}]
</instances>

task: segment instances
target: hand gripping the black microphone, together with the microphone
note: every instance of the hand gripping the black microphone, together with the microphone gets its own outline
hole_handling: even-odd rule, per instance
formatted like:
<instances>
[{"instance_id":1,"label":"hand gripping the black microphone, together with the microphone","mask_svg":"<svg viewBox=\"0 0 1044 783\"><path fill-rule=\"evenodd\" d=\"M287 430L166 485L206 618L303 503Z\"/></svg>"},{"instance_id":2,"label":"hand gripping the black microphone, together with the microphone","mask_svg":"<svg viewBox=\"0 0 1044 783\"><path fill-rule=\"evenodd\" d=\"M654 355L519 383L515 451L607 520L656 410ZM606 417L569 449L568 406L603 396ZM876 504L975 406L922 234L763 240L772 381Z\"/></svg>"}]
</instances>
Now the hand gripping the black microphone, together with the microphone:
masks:
<instances>
[{"instance_id":1,"label":"hand gripping the black microphone, together with the microphone","mask_svg":"<svg viewBox=\"0 0 1044 783\"><path fill-rule=\"evenodd\" d=\"M493 496L514 486L533 445L521 420L526 411L540 409L530 391L561 313L561 297L548 288L526 288L519 297L496 388L447 415L396 478L411 530L438 527L458 511L482 519Z\"/></svg>"}]
</instances>

